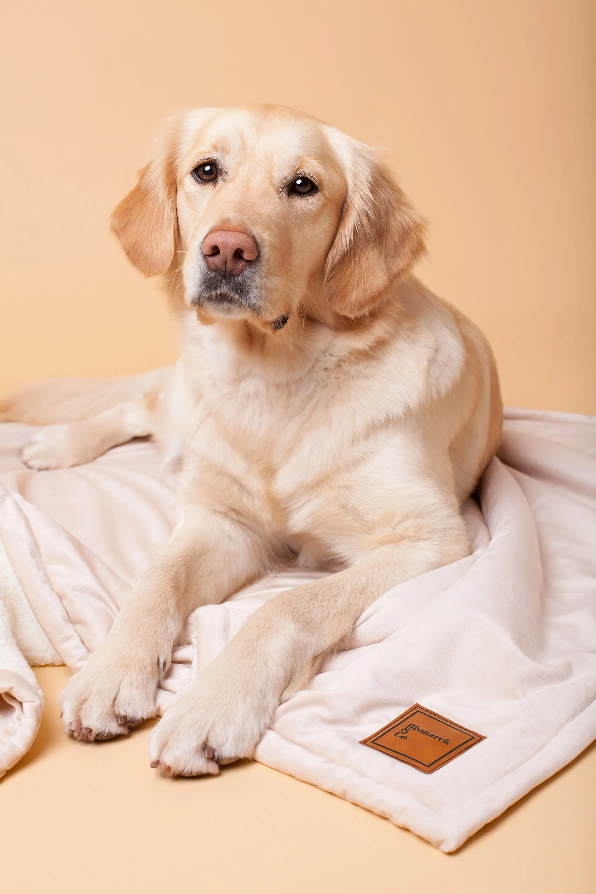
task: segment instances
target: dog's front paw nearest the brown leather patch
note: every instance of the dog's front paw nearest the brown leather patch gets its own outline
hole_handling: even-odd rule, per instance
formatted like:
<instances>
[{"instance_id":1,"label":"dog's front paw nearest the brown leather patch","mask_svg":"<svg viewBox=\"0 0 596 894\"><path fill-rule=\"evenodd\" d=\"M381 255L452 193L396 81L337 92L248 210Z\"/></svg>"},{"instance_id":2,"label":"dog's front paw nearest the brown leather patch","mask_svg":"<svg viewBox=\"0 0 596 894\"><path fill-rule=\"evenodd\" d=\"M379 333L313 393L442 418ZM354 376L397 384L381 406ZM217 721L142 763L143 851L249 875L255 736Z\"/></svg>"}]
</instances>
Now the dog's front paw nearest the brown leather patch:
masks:
<instances>
[{"instance_id":1,"label":"dog's front paw nearest the brown leather patch","mask_svg":"<svg viewBox=\"0 0 596 894\"><path fill-rule=\"evenodd\" d=\"M221 763L252 757L269 722L262 699L206 678L180 695L151 735L151 766L164 776L218 773Z\"/></svg>"}]
</instances>

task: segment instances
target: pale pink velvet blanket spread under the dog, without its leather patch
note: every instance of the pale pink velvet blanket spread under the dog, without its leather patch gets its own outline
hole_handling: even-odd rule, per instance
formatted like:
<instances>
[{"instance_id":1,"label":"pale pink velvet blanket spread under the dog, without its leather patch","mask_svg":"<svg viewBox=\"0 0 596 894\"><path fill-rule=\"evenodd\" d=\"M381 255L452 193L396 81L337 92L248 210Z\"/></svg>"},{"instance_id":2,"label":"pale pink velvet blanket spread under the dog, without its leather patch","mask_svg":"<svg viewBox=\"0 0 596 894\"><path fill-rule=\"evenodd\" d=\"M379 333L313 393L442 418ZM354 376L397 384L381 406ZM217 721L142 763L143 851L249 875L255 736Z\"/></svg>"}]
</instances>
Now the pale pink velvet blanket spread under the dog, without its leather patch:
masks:
<instances>
[{"instance_id":1,"label":"pale pink velvet blanket spread under the dog, without its leather patch","mask_svg":"<svg viewBox=\"0 0 596 894\"><path fill-rule=\"evenodd\" d=\"M76 671L167 540L175 482L142 442L87 466L30 471L20 460L30 431L0 426L0 538ZM256 749L256 760L445 851L596 738L596 418L508 410L481 504L465 510L473 554L378 599ZM160 711L265 599L322 573L285 571L197 610ZM29 747L42 711L9 640L0 615L0 774ZM432 775L358 744L416 703L486 739Z\"/></svg>"}]
</instances>

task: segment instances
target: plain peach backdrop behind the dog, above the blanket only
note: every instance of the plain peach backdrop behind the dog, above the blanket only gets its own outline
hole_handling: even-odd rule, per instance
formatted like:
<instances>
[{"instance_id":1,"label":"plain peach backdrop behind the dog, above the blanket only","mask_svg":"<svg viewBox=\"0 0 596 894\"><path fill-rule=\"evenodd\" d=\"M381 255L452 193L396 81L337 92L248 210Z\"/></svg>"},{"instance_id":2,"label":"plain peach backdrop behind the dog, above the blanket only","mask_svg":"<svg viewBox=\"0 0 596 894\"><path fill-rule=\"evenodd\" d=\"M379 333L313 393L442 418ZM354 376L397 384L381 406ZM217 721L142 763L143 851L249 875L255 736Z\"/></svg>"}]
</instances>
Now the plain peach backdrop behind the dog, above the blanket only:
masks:
<instances>
[{"instance_id":1,"label":"plain peach backdrop behind the dog, above the blanket only","mask_svg":"<svg viewBox=\"0 0 596 894\"><path fill-rule=\"evenodd\" d=\"M509 404L596 411L589 0L4 5L0 390L174 357L106 218L160 117L257 100L388 150Z\"/></svg>"}]
</instances>

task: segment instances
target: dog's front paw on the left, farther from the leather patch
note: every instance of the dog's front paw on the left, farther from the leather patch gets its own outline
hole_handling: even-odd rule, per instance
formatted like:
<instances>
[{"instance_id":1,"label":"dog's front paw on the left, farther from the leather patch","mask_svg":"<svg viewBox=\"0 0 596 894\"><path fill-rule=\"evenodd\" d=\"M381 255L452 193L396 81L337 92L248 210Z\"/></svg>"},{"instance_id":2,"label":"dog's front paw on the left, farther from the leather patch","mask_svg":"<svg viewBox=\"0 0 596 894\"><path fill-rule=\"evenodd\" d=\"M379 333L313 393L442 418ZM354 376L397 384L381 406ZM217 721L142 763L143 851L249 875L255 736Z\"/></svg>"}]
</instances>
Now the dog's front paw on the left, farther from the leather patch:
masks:
<instances>
[{"instance_id":1,"label":"dog's front paw on the left, farther from the leather patch","mask_svg":"<svg viewBox=\"0 0 596 894\"><path fill-rule=\"evenodd\" d=\"M155 689L164 668L100 646L60 696L64 729L83 742L124 736L155 717Z\"/></svg>"}]
</instances>

